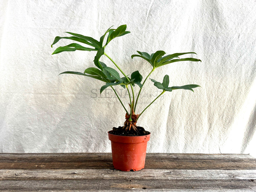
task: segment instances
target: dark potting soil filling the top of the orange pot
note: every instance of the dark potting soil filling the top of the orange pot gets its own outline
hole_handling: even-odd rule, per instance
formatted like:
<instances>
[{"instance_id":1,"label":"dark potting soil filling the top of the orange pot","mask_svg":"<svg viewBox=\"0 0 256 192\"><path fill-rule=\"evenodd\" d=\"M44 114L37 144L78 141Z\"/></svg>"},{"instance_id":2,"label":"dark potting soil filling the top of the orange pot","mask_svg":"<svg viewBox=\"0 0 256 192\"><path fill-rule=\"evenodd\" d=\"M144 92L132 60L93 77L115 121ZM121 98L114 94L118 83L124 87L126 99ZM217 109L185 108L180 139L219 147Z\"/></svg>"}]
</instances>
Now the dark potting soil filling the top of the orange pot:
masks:
<instances>
[{"instance_id":1,"label":"dark potting soil filling the top of the orange pot","mask_svg":"<svg viewBox=\"0 0 256 192\"><path fill-rule=\"evenodd\" d=\"M150 132L146 131L143 127L137 127L138 133L135 133L134 130L124 130L121 126L118 128L113 127L109 133L112 135L121 135L121 136L144 136L150 134Z\"/></svg>"}]
</instances>

